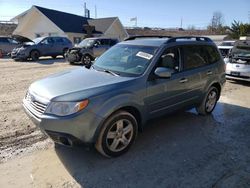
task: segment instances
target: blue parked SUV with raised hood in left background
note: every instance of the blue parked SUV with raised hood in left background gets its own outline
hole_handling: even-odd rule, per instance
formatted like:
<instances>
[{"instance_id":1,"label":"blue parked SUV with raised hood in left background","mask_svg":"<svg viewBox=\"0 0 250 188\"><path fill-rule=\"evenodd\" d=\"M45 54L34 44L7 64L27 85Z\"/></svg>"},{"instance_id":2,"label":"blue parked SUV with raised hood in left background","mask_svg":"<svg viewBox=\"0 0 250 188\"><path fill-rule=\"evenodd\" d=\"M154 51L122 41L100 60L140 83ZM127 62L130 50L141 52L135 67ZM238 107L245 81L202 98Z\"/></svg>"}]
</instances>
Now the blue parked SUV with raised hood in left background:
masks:
<instances>
[{"instance_id":1,"label":"blue parked SUV with raised hood in left background","mask_svg":"<svg viewBox=\"0 0 250 188\"><path fill-rule=\"evenodd\" d=\"M72 48L72 42L66 37L39 37L34 40L23 36L14 36L14 38L23 43L11 52L11 57L15 60L31 58L36 61L41 56L56 58L58 55L64 56L67 50Z\"/></svg>"}]
</instances>

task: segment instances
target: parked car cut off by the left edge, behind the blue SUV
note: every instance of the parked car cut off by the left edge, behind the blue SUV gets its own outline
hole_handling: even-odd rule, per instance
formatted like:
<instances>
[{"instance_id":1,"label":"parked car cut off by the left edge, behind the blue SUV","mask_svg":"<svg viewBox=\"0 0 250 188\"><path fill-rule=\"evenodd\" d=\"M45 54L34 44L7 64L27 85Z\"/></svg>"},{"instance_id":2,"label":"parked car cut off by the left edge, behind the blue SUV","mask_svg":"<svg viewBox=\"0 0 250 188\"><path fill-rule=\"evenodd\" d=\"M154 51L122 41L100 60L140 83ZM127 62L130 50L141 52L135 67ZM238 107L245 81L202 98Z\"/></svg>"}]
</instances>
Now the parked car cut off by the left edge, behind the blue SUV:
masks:
<instances>
[{"instance_id":1,"label":"parked car cut off by the left edge, behind the blue SUV","mask_svg":"<svg viewBox=\"0 0 250 188\"><path fill-rule=\"evenodd\" d=\"M0 53L2 55L7 55L18 45L18 42L13 38L0 36Z\"/></svg>"}]
</instances>

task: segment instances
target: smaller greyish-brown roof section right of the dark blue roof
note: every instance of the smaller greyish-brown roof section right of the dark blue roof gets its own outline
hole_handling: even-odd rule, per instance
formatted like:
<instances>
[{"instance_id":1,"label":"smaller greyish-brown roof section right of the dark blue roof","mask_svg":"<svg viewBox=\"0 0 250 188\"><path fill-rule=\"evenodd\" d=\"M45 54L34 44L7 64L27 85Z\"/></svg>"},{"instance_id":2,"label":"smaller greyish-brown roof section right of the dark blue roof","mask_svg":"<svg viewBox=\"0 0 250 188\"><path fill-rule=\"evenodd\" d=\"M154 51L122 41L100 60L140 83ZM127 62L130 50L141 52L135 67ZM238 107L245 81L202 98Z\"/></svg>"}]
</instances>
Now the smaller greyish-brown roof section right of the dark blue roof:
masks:
<instances>
[{"instance_id":1,"label":"smaller greyish-brown roof section right of the dark blue roof","mask_svg":"<svg viewBox=\"0 0 250 188\"><path fill-rule=\"evenodd\" d=\"M88 24L95 26L95 30L105 33L117 17L88 19Z\"/></svg>"}]
</instances>

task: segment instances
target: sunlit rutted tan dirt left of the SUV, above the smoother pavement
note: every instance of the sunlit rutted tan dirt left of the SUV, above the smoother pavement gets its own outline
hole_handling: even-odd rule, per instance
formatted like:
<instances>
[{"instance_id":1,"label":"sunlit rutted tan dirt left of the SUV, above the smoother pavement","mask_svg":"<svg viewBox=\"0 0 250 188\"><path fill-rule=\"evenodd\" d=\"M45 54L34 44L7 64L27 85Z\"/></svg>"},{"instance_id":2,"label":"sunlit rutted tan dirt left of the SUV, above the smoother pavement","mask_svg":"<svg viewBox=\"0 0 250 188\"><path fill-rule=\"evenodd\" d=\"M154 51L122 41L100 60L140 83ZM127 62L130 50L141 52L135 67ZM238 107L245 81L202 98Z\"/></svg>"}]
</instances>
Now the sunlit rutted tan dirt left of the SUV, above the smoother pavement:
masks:
<instances>
[{"instance_id":1,"label":"sunlit rutted tan dirt left of the SUV, above the smoother pavement","mask_svg":"<svg viewBox=\"0 0 250 188\"><path fill-rule=\"evenodd\" d=\"M22 99L32 82L68 68L72 66L64 59L37 63L0 59L0 162L24 150L51 145L24 113ZM40 144L41 141L46 144Z\"/></svg>"}]
</instances>

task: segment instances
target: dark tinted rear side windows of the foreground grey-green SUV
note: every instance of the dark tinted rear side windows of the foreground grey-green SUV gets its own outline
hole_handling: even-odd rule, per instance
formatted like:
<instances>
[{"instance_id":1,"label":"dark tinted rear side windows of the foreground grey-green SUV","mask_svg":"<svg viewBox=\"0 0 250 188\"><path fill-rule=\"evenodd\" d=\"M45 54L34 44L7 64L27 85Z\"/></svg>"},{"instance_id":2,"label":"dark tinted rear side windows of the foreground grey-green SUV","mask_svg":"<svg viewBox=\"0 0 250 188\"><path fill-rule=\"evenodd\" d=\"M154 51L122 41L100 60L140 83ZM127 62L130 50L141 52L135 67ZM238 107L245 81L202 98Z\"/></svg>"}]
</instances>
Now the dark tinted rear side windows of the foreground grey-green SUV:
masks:
<instances>
[{"instance_id":1,"label":"dark tinted rear side windows of the foreground grey-green SUV","mask_svg":"<svg viewBox=\"0 0 250 188\"><path fill-rule=\"evenodd\" d=\"M209 65L220 60L220 54L213 46L184 46L184 70Z\"/></svg>"}]
</instances>

